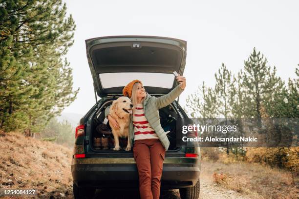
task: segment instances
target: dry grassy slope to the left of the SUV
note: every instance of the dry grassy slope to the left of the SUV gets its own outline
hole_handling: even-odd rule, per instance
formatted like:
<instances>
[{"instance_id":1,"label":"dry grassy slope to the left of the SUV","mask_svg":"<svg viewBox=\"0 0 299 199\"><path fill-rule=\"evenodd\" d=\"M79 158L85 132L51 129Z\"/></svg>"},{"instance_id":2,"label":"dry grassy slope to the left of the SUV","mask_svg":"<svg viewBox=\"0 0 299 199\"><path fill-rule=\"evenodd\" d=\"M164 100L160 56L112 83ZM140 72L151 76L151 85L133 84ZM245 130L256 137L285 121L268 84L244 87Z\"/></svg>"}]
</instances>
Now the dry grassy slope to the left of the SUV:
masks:
<instances>
[{"instance_id":1,"label":"dry grassy slope to the left of the SUV","mask_svg":"<svg viewBox=\"0 0 299 199\"><path fill-rule=\"evenodd\" d=\"M0 188L39 190L38 198L72 198L69 148L15 132L1 134L0 143Z\"/></svg>"}]
</instances>

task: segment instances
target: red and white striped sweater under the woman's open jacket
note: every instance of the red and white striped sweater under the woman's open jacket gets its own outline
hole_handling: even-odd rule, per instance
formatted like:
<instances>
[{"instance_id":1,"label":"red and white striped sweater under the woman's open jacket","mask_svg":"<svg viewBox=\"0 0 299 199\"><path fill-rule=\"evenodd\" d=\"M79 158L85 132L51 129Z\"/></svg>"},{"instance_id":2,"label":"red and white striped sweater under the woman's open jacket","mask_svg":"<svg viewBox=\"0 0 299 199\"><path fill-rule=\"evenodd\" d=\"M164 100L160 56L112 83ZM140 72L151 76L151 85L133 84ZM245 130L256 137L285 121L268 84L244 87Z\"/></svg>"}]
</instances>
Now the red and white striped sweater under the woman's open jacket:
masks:
<instances>
[{"instance_id":1,"label":"red and white striped sweater under the woman's open jacket","mask_svg":"<svg viewBox=\"0 0 299 199\"><path fill-rule=\"evenodd\" d=\"M144 115L143 104L136 104L133 113L134 140L137 139L159 139L155 131L149 125Z\"/></svg>"}]
</instances>

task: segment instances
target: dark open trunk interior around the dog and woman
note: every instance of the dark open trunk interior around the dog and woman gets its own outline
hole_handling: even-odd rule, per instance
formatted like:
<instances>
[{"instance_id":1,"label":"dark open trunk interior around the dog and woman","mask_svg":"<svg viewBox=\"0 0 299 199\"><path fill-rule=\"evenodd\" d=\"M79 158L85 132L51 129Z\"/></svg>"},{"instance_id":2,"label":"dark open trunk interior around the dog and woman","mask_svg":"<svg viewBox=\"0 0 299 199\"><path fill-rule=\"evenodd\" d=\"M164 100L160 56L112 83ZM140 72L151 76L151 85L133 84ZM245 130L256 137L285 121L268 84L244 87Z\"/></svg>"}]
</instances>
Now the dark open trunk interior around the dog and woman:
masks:
<instances>
[{"instance_id":1,"label":"dark open trunk interior around the dog and woman","mask_svg":"<svg viewBox=\"0 0 299 199\"><path fill-rule=\"evenodd\" d=\"M111 133L111 128L109 123L107 125L103 124L105 119L105 109L107 106L112 104L113 100L107 100L93 116L91 123L91 132L90 132L90 148L95 152L111 152L114 148L114 138ZM180 117L178 112L175 110L174 105L170 104L159 110L161 126L167 133L168 139L170 140L170 146L168 152L178 151L180 148L176 147L176 120ZM103 128L104 127L104 128ZM107 133L108 129L110 134ZM120 138L120 147L121 150L118 152L124 152L127 146L128 138Z\"/></svg>"}]
</instances>

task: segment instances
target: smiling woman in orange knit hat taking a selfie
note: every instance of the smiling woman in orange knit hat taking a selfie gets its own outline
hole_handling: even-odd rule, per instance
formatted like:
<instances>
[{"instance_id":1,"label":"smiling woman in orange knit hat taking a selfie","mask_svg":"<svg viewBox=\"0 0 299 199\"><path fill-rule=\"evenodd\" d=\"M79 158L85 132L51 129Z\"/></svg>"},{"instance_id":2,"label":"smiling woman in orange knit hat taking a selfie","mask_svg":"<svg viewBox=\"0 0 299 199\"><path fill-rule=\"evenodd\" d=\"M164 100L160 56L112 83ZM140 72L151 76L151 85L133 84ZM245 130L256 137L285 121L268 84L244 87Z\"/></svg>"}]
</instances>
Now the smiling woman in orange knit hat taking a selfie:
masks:
<instances>
[{"instance_id":1,"label":"smiling woman in orange knit hat taking a selfie","mask_svg":"<svg viewBox=\"0 0 299 199\"><path fill-rule=\"evenodd\" d=\"M169 94L159 98L146 93L142 82L133 80L123 89L124 96L134 104L129 125L129 139L139 175L141 199L159 199L163 160L169 147L169 140L160 124L159 112L174 101L185 89L186 78L177 76L180 82ZM119 128L115 119L105 110L109 124ZM132 144L133 143L133 144Z\"/></svg>"}]
</instances>

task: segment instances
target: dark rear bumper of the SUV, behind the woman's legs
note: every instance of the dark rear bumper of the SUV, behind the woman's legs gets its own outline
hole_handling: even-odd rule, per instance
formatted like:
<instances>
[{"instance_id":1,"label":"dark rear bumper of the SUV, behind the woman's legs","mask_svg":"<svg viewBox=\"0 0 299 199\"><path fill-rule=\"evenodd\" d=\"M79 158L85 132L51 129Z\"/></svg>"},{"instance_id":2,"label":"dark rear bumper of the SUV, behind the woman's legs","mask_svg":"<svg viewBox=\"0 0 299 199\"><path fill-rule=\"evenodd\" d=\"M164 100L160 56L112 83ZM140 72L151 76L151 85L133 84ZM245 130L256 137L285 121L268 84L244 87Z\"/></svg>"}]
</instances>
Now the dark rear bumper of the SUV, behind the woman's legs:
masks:
<instances>
[{"instance_id":1,"label":"dark rear bumper of the SUV, behind the woman's legs","mask_svg":"<svg viewBox=\"0 0 299 199\"><path fill-rule=\"evenodd\" d=\"M200 166L192 163L164 163L161 189L194 186L199 179ZM72 176L79 187L138 188L136 163L73 164Z\"/></svg>"}]
</instances>

